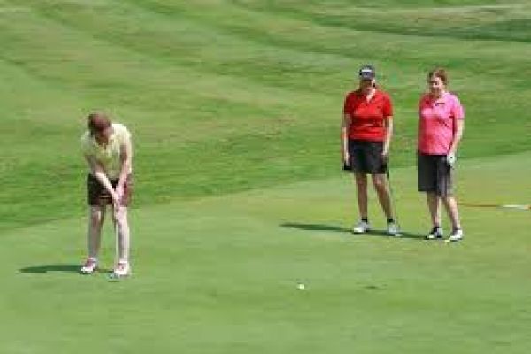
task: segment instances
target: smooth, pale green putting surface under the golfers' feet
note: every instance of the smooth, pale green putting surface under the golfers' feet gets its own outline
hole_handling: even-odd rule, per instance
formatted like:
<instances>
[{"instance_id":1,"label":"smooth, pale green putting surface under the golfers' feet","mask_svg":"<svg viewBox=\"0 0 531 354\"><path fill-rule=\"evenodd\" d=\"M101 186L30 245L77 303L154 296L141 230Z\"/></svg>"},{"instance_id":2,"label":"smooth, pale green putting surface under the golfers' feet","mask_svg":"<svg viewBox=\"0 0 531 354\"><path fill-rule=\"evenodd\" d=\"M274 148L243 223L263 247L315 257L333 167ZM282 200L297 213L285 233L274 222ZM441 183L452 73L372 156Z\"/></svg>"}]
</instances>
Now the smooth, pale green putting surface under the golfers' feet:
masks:
<instances>
[{"instance_id":1,"label":"smooth, pale green putting surface under the golfers' feet","mask_svg":"<svg viewBox=\"0 0 531 354\"><path fill-rule=\"evenodd\" d=\"M464 161L459 198L526 204L529 158ZM527 353L531 213L462 208L465 242L425 242L414 170L392 181L402 238L349 233L347 175L135 209L135 274L119 282L76 273L84 219L12 231L0 351Z\"/></svg>"}]
</instances>

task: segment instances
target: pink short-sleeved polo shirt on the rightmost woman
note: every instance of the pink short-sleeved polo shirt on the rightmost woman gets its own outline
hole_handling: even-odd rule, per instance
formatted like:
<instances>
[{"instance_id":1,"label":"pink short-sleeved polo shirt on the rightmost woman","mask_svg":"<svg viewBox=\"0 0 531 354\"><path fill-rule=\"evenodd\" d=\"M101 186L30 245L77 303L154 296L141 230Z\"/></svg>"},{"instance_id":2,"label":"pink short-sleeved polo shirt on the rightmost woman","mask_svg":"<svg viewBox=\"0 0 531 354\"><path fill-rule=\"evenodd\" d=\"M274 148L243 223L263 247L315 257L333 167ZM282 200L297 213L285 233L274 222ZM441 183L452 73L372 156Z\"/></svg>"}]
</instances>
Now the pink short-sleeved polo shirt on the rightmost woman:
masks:
<instances>
[{"instance_id":1,"label":"pink short-sleeved polo shirt on the rightmost woman","mask_svg":"<svg viewBox=\"0 0 531 354\"><path fill-rule=\"evenodd\" d=\"M434 100L429 94L419 102L419 151L427 155L446 155L450 151L457 119L465 119L458 96L445 92Z\"/></svg>"}]
</instances>

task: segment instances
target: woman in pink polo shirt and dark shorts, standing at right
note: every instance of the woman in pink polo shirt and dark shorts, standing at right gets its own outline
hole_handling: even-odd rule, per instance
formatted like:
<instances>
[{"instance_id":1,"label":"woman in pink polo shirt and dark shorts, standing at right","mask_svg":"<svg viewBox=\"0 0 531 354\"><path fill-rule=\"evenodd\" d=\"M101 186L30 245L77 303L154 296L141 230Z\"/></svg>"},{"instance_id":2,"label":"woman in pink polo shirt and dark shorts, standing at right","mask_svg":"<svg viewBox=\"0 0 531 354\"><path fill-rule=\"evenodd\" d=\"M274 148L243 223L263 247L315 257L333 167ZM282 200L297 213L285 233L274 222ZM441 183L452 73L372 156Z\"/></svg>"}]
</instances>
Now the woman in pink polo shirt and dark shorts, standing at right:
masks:
<instances>
[{"instance_id":1,"label":"woman in pink polo shirt and dark shorts, standing at right","mask_svg":"<svg viewBox=\"0 0 531 354\"><path fill-rule=\"evenodd\" d=\"M418 178L419 192L427 193L433 228L427 240L443 238L441 201L451 220L448 241L463 238L458 203L453 195L453 167L465 127L465 113L458 96L448 92L444 69L428 73L429 92L419 102Z\"/></svg>"}]
</instances>

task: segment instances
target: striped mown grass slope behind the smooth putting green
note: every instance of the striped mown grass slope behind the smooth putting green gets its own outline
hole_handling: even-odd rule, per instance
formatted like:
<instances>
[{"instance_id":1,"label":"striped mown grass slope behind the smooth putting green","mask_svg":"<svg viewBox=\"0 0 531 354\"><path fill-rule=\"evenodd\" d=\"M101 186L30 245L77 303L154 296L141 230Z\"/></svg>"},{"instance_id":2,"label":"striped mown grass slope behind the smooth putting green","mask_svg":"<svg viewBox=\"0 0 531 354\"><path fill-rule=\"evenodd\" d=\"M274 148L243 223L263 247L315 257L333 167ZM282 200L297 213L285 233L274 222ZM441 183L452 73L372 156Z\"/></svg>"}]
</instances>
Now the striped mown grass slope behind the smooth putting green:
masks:
<instances>
[{"instance_id":1,"label":"striped mown grass slope behind the smooth putting green","mask_svg":"<svg viewBox=\"0 0 531 354\"><path fill-rule=\"evenodd\" d=\"M512 35L531 12L458 3L4 1L19 11L0 12L0 228L82 212L93 110L135 133L137 205L333 176L342 98L366 62L396 102L395 165L413 163L435 65L466 105L464 158L527 150L531 49Z\"/></svg>"}]
</instances>

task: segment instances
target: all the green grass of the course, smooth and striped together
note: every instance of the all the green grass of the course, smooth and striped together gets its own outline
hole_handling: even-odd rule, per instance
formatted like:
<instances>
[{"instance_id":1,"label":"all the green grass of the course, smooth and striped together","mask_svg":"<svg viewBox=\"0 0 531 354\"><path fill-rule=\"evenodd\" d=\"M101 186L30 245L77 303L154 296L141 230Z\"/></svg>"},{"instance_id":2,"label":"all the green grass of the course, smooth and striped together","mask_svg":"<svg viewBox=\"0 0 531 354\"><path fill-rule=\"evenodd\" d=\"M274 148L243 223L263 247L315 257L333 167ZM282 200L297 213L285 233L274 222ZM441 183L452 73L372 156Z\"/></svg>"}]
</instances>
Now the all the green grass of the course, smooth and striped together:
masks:
<instances>
[{"instance_id":1,"label":"all the green grass of the course, smooth and striped together","mask_svg":"<svg viewBox=\"0 0 531 354\"><path fill-rule=\"evenodd\" d=\"M442 65L458 200L531 204L530 23L510 0L0 0L0 354L527 354L531 212L463 206L464 242L426 242L414 164ZM395 103L402 238L350 233L339 127L366 63ZM78 273L94 110L134 136L123 281L110 225Z\"/></svg>"}]
</instances>

